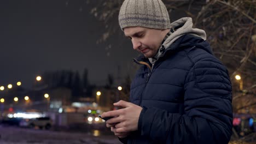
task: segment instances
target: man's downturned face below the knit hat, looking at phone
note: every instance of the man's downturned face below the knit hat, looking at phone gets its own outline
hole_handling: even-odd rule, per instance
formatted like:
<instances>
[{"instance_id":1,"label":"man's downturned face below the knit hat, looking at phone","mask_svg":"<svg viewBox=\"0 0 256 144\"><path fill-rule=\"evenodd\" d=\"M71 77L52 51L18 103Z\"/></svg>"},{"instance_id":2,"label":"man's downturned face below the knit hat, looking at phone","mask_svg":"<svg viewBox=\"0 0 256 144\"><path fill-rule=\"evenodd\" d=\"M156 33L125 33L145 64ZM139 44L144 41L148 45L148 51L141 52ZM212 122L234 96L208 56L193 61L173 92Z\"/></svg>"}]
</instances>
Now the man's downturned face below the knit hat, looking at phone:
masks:
<instances>
[{"instance_id":1,"label":"man's downturned face below the knit hat, looking at phone","mask_svg":"<svg viewBox=\"0 0 256 144\"><path fill-rule=\"evenodd\" d=\"M133 49L143 53L147 58L154 57L165 37L161 29L144 27L126 27L124 34L132 41Z\"/></svg>"}]
</instances>

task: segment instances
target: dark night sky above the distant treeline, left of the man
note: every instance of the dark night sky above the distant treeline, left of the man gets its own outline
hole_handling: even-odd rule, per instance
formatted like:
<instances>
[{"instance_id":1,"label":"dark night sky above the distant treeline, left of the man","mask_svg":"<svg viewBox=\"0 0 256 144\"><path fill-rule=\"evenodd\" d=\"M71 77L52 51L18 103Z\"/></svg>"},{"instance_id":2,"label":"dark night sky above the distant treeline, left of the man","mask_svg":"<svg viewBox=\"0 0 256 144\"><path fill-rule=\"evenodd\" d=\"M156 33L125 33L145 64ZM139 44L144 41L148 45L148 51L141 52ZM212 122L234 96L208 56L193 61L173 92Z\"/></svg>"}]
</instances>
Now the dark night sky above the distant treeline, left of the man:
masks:
<instances>
[{"instance_id":1,"label":"dark night sky above the distant treeline, left of the man","mask_svg":"<svg viewBox=\"0 0 256 144\"><path fill-rule=\"evenodd\" d=\"M96 44L104 24L90 7L85 1L0 0L0 85L21 81L29 88L36 75L55 70L82 75L88 68L96 85L104 85L108 74L117 76L118 65L121 77L132 73L131 58L138 53L120 35Z\"/></svg>"}]
</instances>

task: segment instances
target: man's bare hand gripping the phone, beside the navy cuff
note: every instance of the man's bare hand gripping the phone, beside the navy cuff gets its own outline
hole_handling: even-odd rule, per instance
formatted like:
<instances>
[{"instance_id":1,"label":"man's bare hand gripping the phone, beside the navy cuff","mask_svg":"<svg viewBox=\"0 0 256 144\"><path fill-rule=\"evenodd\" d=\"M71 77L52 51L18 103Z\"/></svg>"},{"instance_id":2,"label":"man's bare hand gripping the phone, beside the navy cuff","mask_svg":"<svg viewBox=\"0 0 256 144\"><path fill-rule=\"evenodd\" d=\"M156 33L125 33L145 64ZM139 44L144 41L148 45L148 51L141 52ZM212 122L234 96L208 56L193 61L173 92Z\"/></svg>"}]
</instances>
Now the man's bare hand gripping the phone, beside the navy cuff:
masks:
<instances>
[{"instance_id":1,"label":"man's bare hand gripping the phone, beside the navy cuff","mask_svg":"<svg viewBox=\"0 0 256 144\"><path fill-rule=\"evenodd\" d=\"M114 103L114 106L121 106L124 108L102 113L102 117L114 117L107 121L107 127L111 127L111 130L115 135L120 134L120 136L121 134L137 130L138 119L141 114L142 107L124 100Z\"/></svg>"}]
</instances>

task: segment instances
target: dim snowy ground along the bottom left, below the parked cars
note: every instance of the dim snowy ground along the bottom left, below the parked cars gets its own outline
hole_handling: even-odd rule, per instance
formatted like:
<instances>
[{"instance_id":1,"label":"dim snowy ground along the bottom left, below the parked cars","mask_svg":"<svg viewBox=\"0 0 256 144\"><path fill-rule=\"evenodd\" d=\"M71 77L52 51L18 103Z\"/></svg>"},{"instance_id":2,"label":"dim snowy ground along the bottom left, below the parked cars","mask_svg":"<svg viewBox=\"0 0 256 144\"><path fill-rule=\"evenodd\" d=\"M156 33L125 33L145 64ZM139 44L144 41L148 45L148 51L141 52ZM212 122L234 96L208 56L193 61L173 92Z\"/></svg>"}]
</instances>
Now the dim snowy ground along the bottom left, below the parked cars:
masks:
<instances>
[{"instance_id":1,"label":"dim snowy ground along the bottom left, below the parked cars","mask_svg":"<svg viewBox=\"0 0 256 144\"><path fill-rule=\"evenodd\" d=\"M97 132L97 131L96 131ZM96 135L96 136L95 136ZM41 143L120 143L114 135L97 136L90 133L71 133L39 129L27 129L19 127L3 127L0 125L1 144L41 144Z\"/></svg>"}]
</instances>

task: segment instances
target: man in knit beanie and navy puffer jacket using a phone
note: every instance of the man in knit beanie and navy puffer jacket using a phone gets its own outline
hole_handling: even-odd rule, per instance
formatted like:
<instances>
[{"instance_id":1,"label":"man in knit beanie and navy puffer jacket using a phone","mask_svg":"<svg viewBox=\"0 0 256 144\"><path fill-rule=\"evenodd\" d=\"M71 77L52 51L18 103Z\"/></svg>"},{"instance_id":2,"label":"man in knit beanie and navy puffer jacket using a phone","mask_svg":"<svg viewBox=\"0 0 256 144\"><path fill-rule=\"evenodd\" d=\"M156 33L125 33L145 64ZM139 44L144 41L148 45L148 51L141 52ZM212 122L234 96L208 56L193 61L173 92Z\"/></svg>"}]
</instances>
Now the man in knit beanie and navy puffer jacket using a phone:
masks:
<instances>
[{"instance_id":1,"label":"man in knit beanie and navy puffer jacket using a phone","mask_svg":"<svg viewBox=\"0 0 256 144\"><path fill-rule=\"evenodd\" d=\"M104 112L123 143L228 143L232 134L231 83L213 56L205 31L190 17L173 23L161 0L125 0L119 25L142 67L130 101Z\"/></svg>"}]
</instances>

